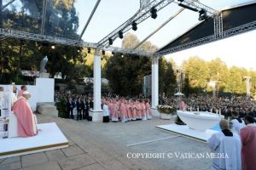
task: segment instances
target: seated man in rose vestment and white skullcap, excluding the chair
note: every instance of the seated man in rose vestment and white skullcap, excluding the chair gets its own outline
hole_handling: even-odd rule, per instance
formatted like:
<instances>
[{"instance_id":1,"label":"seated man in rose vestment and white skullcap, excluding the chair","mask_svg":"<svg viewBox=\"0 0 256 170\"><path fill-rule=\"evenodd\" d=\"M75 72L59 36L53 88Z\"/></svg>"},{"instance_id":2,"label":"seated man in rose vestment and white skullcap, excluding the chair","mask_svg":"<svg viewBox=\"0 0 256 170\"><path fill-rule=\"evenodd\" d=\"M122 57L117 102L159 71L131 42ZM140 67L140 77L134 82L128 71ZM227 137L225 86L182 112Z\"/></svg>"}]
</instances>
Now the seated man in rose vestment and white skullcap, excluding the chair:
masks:
<instances>
[{"instance_id":1,"label":"seated man in rose vestment and white skullcap, excluding the chair","mask_svg":"<svg viewBox=\"0 0 256 170\"><path fill-rule=\"evenodd\" d=\"M34 136L38 133L37 120L34 116L27 99L31 97L29 92L24 92L17 101L15 101L13 111L17 116L18 121L18 136L29 137Z\"/></svg>"}]
</instances>

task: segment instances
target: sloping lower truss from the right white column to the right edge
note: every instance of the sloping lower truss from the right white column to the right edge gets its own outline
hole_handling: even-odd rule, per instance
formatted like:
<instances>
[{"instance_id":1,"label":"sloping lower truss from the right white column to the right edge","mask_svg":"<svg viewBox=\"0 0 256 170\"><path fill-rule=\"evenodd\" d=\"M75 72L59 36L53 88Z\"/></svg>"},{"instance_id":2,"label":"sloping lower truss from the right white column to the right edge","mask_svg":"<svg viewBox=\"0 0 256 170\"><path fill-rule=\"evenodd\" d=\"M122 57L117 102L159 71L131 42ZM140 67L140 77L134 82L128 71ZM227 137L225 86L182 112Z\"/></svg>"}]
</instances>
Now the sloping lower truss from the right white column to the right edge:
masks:
<instances>
[{"instance_id":1,"label":"sloping lower truss from the right white column to the right edge","mask_svg":"<svg viewBox=\"0 0 256 170\"><path fill-rule=\"evenodd\" d=\"M168 48L166 50L160 51L158 53L155 53L154 56L160 57L163 56L165 54L172 54L175 53L177 51L181 51L183 49L186 48L193 48L196 46L199 46L201 44L205 44L208 42L213 42L222 38L226 38L226 37L231 37L231 36L235 36L236 34L240 34L240 33L244 33L247 31L253 31L256 29L256 20L250 23L247 23L245 25L242 26L237 26L235 28L232 28L230 30L227 31L223 31L222 35L220 37L215 37L215 35L212 36L208 36L208 37L203 37L201 39L195 40L193 42L188 42L188 43L183 43L182 45L179 45L177 47L174 48Z\"/></svg>"}]
</instances>

